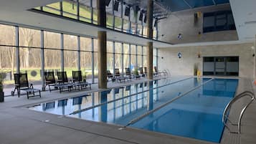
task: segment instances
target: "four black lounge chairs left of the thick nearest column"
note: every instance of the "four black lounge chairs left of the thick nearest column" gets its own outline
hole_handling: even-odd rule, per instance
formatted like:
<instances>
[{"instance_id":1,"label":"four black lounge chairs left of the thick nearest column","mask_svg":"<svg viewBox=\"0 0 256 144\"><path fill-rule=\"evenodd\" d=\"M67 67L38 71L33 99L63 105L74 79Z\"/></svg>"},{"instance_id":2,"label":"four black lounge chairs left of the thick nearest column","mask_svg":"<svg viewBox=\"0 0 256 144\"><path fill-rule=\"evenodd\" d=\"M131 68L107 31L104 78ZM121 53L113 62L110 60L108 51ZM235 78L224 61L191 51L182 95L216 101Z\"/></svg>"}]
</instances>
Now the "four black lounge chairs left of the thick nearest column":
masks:
<instances>
[{"instance_id":1,"label":"four black lounge chairs left of the thick nearest column","mask_svg":"<svg viewBox=\"0 0 256 144\"><path fill-rule=\"evenodd\" d=\"M67 79L67 72L57 72L58 79L55 80L54 72L44 72L45 87L49 87L49 92L52 91L51 87L54 87L54 90L60 90L60 92L67 90L82 90L89 87L91 89L91 84L82 80L81 71L72 71L72 79ZM14 74L14 91L11 92L11 95L14 95L14 92L17 90L17 95L20 97L21 90L27 93L27 98L29 97L41 97L41 90L35 89L32 84L29 85L29 80L27 78L27 73Z\"/></svg>"}]
</instances>

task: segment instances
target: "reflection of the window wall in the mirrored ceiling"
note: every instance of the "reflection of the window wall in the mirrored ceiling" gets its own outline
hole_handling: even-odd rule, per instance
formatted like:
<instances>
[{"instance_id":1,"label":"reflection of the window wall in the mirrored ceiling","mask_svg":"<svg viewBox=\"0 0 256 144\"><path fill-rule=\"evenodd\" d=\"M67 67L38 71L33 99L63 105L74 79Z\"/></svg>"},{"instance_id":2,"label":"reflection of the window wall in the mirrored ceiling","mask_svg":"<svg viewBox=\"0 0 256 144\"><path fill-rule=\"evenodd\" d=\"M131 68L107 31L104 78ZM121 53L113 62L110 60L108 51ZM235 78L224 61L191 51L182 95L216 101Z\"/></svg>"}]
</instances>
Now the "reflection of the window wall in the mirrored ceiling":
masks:
<instances>
[{"instance_id":1,"label":"reflection of the window wall in the mirrored ceiling","mask_svg":"<svg viewBox=\"0 0 256 144\"><path fill-rule=\"evenodd\" d=\"M34 8L39 11L46 11L52 14L57 14L61 16L68 17L70 19L78 19L80 21L85 21L88 23L98 24L98 11L97 11L97 1L80 1L79 8L77 11L77 1L61 1L54 4L48 4L46 6ZM125 15L125 4L118 2L118 11L113 9L114 1L110 1L110 4L106 6L107 11L107 27L110 29L115 29L121 32L126 32L130 34L136 34L141 37L147 37L146 35L146 23L143 22L144 19L139 20L138 14L141 11L136 13L136 10L133 7L130 8L130 12L127 12L128 15ZM121 7L123 6L123 14L121 14ZM145 15L145 14L144 14ZM144 16L143 16L144 17ZM156 24L157 27L157 24ZM156 27L153 29L153 39L156 39L157 32Z\"/></svg>"}]
</instances>

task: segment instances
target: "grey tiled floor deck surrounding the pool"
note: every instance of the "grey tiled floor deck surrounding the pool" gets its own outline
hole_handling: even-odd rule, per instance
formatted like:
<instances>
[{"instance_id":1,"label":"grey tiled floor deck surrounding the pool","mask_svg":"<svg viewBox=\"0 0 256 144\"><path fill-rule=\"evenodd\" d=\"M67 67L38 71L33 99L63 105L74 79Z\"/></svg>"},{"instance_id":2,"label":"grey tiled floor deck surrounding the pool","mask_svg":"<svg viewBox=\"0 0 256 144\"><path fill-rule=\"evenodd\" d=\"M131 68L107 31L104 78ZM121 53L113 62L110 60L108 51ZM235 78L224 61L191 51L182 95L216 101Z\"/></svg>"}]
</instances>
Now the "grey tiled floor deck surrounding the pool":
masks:
<instances>
[{"instance_id":1,"label":"grey tiled floor deck surrounding the pool","mask_svg":"<svg viewBox=\"0 0 256 144\"><path fill-rule=\"evenodd\" d=\"M138 80L133 82L142 82ZM129 85L133 82L125 83ZM250 80L241 79L237 93L251 89ZM123 84L122 84L123 85ZM118 87L119 83L112 83L110 87ZM255 87L254 87L255 88ZM98 90L93 85L92 91ZM168 144L198 144L207 142L190 138L181 138L173 135L153 133L149 131L126 128L118 130L118 125L106 125L80 120L72 117L60 117L44 112L28 110L22 106L33 103L45 102L63 97L73 97L81 93L89 92L42 92L42 98L33 97L6 97L5 102L0 103L0 143L1 144L37 144L37 143L168 143ZM245 103L241 100L241 103ZM234 106L234 113L240 110L240 105ZM256 143L256 103L253 102L247 108L242 120L242 133L229 134L224 130L222 143ZM232 116L232 115L231 115ZM235 117L235 114L234 114Z\"/></svg>"}]
</instances>

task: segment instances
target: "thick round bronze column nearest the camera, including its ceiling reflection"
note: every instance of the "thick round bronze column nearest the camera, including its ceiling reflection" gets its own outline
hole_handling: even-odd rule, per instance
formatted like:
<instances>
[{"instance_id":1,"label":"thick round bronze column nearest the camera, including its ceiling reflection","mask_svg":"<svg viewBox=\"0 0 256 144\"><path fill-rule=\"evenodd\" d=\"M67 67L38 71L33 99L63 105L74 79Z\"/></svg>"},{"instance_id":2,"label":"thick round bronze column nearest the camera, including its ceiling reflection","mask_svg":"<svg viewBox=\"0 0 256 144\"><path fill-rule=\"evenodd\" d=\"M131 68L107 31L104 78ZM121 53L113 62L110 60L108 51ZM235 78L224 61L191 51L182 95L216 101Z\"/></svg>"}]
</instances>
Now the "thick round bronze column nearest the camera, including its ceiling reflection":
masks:
<instances>
[{"instance_id":1,"label":"thick round bronze column nearest the camera, including its ceiling reflection","mask_svg":"<svg viewBox=\"0 0 256 144\"><path fill-rule=\"evenodd\" d=\"M106 27L105 0L97 1L98 25ZM107 32L98 31L98 87L107 88Z\"/></svg>"}]
</instances>

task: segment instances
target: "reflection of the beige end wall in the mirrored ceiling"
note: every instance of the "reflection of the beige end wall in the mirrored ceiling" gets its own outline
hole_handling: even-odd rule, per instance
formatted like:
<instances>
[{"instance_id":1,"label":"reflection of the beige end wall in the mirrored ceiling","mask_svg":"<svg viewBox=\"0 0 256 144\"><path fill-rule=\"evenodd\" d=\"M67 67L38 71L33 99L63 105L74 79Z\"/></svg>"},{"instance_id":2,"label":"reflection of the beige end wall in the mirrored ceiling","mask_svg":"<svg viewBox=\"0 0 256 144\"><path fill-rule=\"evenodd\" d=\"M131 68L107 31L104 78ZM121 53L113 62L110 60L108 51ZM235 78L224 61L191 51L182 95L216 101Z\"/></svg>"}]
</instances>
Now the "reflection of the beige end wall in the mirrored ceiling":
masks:
<instances>
[{"instance_id":1,"label":"reflection of the beige end wall in the mirrored ceiling","mask_svg":"<svg viewBox=\"0 0 256 144\"><path fill-rule=\"evenodd\" d=\"M163 42L171 42L173 44L238 40L237 31L198 34L203 31L203 13L230 9L229 5L220 5L173 12L167 19L162 19L159 22L158 39ZM196 11L201 11L202 15L199 17L198 21L194 23L194 13L196 13ZM177 38L179 33L182 34L182 39Z\"/></svg>"}]
</instances>

